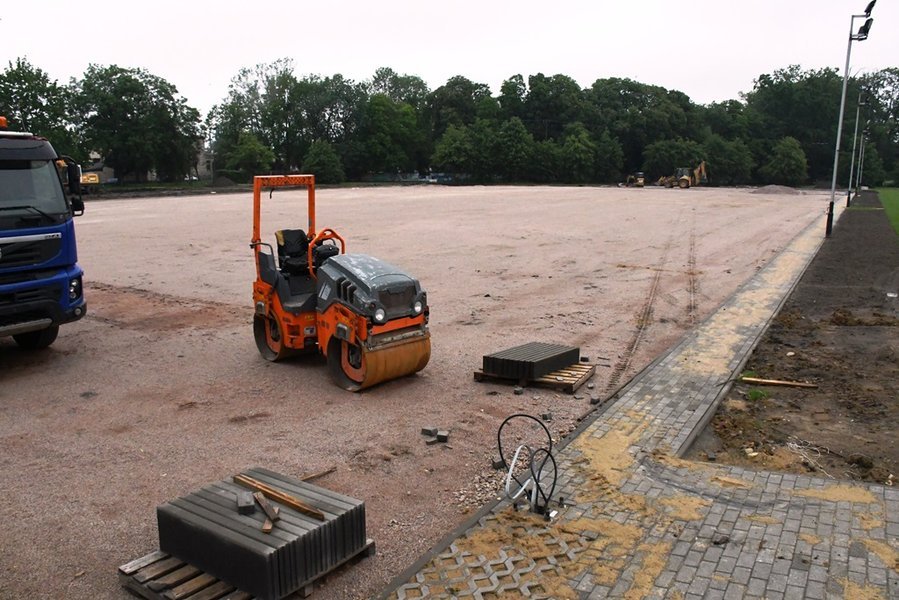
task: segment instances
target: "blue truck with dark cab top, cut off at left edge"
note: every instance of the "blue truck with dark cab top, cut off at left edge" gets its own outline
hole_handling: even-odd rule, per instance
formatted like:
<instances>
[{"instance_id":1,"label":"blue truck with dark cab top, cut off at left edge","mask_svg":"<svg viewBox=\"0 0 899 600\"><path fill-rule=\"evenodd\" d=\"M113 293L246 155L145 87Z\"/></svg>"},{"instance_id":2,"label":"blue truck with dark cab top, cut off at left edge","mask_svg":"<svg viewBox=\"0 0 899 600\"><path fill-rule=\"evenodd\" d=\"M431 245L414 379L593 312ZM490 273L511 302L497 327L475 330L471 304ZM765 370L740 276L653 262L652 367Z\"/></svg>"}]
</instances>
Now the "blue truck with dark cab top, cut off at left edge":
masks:
<instances>
[{"instance_id":1,"label":"blue truck with dark cab top, cut off at left edge","mask_svg":"<svg viewBox=\"0 0 899 600\"><path fill-rule=\"evenodd\" d=\"M84 316L73 222L82 213L81 168L0 117L0 337L38 350Z\"/></svg>"}]
</instances>

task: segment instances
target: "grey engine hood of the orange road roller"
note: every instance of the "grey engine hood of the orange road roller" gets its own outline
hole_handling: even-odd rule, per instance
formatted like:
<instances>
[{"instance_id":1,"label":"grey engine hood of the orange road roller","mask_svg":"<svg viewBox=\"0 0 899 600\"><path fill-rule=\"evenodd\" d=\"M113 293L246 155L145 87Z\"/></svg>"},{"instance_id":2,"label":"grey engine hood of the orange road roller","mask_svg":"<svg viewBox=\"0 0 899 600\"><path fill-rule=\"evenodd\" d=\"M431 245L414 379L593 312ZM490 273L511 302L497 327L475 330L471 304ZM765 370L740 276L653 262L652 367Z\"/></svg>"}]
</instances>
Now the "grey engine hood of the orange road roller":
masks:
<instances>
[{"instance_id":1,"label":"grey engine hood of the orange road roller","mask_svg":"<svg viewBox=\"0 0 899 600\"><path fill-rule=\"evenodd\" d=\"M335 302L374 320L381 308L385 322L415 317L419 301L424 311L427 295L418 280L388 262L366 254L340 254L326 260L318 269L318 310L325 311Z\"/></svg>"}]
</instances>

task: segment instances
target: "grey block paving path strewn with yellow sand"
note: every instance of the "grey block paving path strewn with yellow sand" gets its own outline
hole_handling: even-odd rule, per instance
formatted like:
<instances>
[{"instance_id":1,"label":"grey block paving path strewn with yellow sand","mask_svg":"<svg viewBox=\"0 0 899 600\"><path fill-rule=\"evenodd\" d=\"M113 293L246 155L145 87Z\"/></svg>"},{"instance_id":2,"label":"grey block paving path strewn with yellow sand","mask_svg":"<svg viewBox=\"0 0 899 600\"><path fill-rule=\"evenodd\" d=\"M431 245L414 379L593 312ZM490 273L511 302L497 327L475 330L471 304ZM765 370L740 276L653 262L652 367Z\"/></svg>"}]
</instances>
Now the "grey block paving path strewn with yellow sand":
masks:
<instances>
[{"instance_id":1,"label":"grey block paving path strewn with yellow sand","mask_svg":"<svg viewBox=\"0 0 899 600\"><path fill-rule=\"evenodd\" d=\"M500 502L382 597L899 598L899 489L679 458L822 230L797 235L557 452L554 519Z\"/></svg>"}]
</instances>

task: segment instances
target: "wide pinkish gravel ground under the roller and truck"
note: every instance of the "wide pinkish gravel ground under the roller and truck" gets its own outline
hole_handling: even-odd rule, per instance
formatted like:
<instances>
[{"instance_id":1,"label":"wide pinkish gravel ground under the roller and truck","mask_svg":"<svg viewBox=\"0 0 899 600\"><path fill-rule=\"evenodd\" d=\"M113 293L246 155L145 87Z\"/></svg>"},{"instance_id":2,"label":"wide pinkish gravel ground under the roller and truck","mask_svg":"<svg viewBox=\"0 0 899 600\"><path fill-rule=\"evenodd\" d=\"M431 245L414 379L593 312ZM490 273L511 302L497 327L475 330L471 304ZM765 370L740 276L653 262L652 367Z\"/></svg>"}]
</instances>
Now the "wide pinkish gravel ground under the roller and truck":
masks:
<instances>
[{"instance_id":1,"label":"wide pinkish gravel ground under the roller and truck","mask_svg":"<svg viewBox=\"0 0 899 600\"><path fill-rule=\"evenodd\" d=\"M377 555L319 600L378 592L499 488L500 422L556 439L820 221L826 198L749 190L320 190L319 227L415 274L420 374L351 394L319 360L271 364L251 332L251 196L105 200L77 222L88 316L37 354L0 339L0 597L125 598L116 567L158 547L155 507L251 466L365 500ZM266 199L263 232L305 225ZM842 225L841 225L842 226ZM476 383L484 354L580 346L577 395ZM450 430L428 446L423 426Z\"/></svg>"}]
</instances>

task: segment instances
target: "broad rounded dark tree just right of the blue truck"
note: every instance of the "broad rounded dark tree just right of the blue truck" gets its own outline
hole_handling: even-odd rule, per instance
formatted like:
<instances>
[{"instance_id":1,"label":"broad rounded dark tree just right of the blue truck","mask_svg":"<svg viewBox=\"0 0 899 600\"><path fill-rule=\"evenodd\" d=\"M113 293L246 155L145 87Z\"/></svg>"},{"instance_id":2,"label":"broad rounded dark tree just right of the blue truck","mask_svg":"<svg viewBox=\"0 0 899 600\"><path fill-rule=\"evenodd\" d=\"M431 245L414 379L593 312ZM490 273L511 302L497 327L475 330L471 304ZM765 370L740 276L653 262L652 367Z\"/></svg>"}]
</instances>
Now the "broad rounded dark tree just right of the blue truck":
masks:
<instances>
[{"instance_id":1,"label":"broad rounded dark tree just right of the blue truck","mask_svg":"<svg viewBox=\"0 0 899 600\"><path fill-rule=\"evenodd\" d=\"M120 179L180 180L196 164L200 114L171 83L143 69L90 65L74 82L85 143Z\"/></svg>"}]
</instances>

